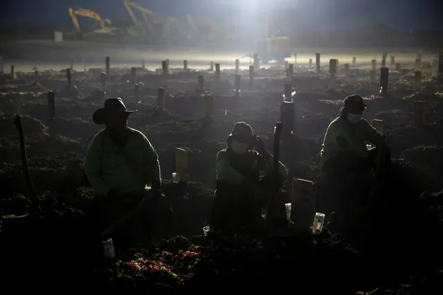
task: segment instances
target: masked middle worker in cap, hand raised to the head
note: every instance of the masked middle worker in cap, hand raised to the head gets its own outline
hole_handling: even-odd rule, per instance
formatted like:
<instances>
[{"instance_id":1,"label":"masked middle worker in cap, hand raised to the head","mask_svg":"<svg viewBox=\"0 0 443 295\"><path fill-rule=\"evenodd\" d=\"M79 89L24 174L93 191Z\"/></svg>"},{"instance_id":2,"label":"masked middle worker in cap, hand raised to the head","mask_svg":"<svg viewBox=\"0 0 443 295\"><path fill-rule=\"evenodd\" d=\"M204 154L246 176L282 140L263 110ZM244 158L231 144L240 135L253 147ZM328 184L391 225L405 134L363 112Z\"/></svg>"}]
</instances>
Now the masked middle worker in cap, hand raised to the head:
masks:
<instances>
[{"instance_id":1,"label":"masked middle worker in cap, hand raised to the head","mask_svg":"<svg viewBox=\"0 0 443 295\"><path fill-rule=\"evenodd\" d=\"M273 157L252 127L245 122L234 125L227 137L227 148L216 159L216 192L211 217L211 229L235 231L240 226L251 228L261 224L261 209L265 192L271 192L270 175ZM266 172L259 178L260 172ZM279 162L279 186L288 172Z\"/></svg>"}]
</instances>

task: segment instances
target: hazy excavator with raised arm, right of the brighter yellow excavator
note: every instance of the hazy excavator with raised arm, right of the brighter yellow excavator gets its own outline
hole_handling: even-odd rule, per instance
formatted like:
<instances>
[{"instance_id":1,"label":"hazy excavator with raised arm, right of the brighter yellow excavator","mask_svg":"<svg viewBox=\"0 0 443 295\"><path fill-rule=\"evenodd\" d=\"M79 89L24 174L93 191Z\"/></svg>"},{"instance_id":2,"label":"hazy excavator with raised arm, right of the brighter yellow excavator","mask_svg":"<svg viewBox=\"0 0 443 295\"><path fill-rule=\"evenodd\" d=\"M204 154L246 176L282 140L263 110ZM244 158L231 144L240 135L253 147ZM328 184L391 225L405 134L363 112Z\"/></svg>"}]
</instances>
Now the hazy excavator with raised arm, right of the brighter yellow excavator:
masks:
<instances>
[{"instance_id":1,"label":"hazy excavator with raised arm, right of the brighter yellow excavator","mask_svg":"<svg viewBox=\"0 0 443 295\"><path fill-rule=\"evenodd\" d=\"M179 37L179 26L177 20L173 17L166 17L164 15L157 15L155 12L141 6L141 4L123 0L126 10L134 23L134 26L128 30L130 35L144 35L146 37L157 37L163 41L170 41L173 38ZM134 14L134 10L141 12L144 21L139 21Z\"/></svg>"}]
</instances>

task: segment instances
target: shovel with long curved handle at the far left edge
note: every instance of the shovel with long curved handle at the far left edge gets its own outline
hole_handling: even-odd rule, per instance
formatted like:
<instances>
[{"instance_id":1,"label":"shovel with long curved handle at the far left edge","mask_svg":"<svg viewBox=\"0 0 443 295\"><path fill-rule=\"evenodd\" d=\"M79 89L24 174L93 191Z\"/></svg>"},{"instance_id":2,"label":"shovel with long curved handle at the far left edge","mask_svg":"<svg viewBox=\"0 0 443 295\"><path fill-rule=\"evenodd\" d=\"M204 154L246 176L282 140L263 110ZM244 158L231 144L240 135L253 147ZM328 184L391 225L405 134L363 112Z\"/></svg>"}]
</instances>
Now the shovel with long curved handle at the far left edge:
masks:
<instances>
[{"instance_id":1,"label":"shovel with long curved handle at the far left edge","mask_svg":"<svg viewBox=\"0 0 443 295\"><path fill-rule=\"evenodd\" d=\"M31 179L31 173L28 168L28 159L26 157L26 147L24 144L24 130L23 125L21 124L21 116L16 116L14 120L15 127L19 132L19 141L20 141L20 154L21 154L21 166L23 167L23 171L26 177L26 184L29 189L29 196L31 197L31 213L40 213L40 206L38 204L37 192L35 191L35 187L33 184L33 180ZM28 216L29 213L25 213L22 215L1 215L3 219L14 219Z\"/></svg>"}]
</instances>

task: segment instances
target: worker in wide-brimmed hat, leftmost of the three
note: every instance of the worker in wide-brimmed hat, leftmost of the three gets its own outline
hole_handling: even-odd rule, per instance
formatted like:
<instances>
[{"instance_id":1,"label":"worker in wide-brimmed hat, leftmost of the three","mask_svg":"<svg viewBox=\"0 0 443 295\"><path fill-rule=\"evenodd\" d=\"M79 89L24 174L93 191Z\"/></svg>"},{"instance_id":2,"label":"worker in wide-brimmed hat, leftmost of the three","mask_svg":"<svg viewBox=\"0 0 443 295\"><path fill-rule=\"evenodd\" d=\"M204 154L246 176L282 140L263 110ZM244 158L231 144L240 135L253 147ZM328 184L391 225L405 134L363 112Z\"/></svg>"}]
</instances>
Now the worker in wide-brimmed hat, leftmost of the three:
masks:
<instances>
[{"instance_id":1,"label":"worker in wide-brimmed hat, leftmost of the three","mask_svg":"<svg viewBox=\"0 0 443 295\"><path fill-rule=\"evenodd\" d=\"M143 224L143 232L134 233L139 235L138 239L147 235L154 240L167 238L172 209L162 195L159 159L148 138L128 127L128 116L134 112L126 109L121 98L110 98L105 100L104 108L94 113L94 123L106 128L98 132L87 147L85 177L101 196L98 199L103 225L119 224L109 227L103 238L118 233L116 228L125 227L128 232L128 220ZM146 190L148 184L151 188Z\"/></svg>"}]
</instances>

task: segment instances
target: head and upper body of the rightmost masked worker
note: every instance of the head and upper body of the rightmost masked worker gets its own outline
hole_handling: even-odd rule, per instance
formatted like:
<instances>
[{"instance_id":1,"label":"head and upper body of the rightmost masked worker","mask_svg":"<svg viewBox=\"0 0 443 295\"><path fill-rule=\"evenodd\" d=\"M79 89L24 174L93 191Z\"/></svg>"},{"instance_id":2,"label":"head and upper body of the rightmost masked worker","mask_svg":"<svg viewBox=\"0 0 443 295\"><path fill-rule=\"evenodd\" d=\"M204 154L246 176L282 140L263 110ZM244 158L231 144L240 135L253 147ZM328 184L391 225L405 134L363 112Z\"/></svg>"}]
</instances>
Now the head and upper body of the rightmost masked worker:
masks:
<instances>
[{"instance_id":1,"label":"head and upper body of the rightmost masked worker","mask_svg":"<svg viewBox=\"0 0 443 295\"><path fill-rule=\"evenodd\" d=\"M361 96L348 96L340 116L329 124L320 152L320 167L327 177L351 181L367 175L376 167L380 148L381 174L390 167L388 146L382 134L362 118L365 109ZM365 141L375 147L368 150Z\"/></svg>"}]
</instances>

